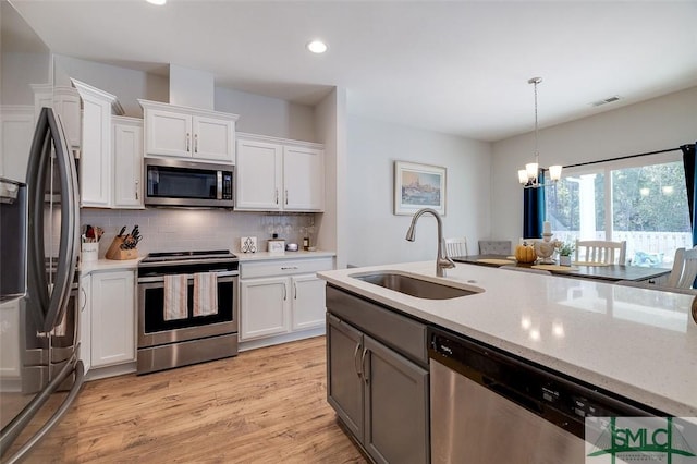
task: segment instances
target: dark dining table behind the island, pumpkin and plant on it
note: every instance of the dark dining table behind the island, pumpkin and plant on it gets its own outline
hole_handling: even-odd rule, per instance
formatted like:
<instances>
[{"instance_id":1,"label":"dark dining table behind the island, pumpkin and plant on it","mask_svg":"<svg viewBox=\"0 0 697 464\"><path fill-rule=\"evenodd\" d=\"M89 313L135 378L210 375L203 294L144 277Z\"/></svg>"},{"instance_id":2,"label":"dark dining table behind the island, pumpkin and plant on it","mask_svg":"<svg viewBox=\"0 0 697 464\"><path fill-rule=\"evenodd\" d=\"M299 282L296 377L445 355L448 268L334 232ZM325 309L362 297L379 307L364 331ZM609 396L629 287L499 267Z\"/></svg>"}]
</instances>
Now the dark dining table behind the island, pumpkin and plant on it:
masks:
<instances>
[{"instance_id":1,"label":"dark dining table behind the island, pumpkin and plant on it","mask_svg":"<svg viewBox=\"0 0 697 464\"><path fill-rule=\"evenodd\" d=\"M514 256L506 255L468 255L451 256L455 262L468 265L502 267L515 266L518 268L533 268L548 270L554 276L563 276L580 279L596 279L608 282L634 281L647 283L662 283L671 273L665 268L649 268L644 266L601 264L601 262L574 262L571 266L560 266L559 264L526 264L516 261Z\"/></svg>"}]
</instances>

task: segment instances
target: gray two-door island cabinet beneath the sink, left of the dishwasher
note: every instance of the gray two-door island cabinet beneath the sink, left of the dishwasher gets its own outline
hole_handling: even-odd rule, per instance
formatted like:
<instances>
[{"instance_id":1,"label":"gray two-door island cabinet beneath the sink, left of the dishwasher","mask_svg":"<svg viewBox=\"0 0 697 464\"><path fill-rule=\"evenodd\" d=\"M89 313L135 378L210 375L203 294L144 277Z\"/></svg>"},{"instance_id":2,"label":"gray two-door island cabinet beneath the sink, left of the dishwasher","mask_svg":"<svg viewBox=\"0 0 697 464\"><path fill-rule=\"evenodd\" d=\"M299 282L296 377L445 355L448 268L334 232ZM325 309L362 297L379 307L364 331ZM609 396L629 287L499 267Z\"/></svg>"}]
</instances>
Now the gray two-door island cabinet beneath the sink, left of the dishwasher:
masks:
<instances>
[{"instance_id":1,"label":"gray two-door island cabinet beneath the sink, left of the dishwasher","mask_svg":"<svg viewBox=\"0 0 697 464\"><path fill-rule=\"evenodd\" d=\"M334 288L327 308L329 404L376 462L428 463L426 327ZM424 346L416 356L402 351L414 333Z\"/></svg>"}]
</instances>

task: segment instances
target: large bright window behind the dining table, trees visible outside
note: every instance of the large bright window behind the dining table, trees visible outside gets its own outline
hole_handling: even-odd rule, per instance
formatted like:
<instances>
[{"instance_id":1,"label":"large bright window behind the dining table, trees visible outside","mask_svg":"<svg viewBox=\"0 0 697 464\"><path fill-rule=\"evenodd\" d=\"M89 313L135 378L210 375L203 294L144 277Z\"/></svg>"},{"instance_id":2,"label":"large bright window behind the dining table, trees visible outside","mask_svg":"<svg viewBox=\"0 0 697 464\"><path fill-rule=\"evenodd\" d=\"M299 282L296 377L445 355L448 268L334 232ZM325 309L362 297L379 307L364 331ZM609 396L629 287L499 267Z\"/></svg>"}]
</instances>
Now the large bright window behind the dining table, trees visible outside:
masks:
<instances>
[{"instance_id":1,"label":"large bright window behind the dining table, trees visible outside","mask_svg":"<svg viewBox=\"0 0 697 464\"><path fill-rule=\"evenodd\" d=\"M627 260L647 267L670 268L676 248L692 248L680 154L571 168L564 174L546 187L555 239L624 240Z\"/></svg>"}]
</instances>

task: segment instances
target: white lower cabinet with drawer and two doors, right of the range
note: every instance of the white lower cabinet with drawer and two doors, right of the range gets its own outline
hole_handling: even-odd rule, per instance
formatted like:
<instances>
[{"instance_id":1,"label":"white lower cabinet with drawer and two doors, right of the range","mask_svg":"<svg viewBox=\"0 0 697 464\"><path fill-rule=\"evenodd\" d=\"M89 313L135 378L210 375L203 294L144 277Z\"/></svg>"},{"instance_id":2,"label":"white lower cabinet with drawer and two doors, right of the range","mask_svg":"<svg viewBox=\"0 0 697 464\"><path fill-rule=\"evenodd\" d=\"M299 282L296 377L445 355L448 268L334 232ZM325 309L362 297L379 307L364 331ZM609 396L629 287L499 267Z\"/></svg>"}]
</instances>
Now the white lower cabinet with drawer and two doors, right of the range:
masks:
<instances>
[{"instance_id":1,"label":"white lower cabinet with drawer and two doors, right of the range","mask_svg":"<svg viewBox=\"0 0 697 464\"><path fill-rule=\"evenodd\" d=\"M325 281L316 272L332 268L331 257L242 262L240 340L321 328Z\"/></svg>"}]
</instances>

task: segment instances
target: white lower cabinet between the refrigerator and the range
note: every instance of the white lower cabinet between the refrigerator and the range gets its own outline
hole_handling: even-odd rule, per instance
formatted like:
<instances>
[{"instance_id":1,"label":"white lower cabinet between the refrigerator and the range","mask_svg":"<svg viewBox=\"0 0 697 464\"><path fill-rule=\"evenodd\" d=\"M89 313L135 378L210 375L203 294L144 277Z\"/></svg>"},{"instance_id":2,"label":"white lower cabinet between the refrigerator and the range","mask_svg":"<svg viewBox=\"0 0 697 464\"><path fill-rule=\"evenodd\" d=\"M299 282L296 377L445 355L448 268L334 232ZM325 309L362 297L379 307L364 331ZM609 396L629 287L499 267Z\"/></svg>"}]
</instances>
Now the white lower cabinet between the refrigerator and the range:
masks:
<instances>
[{"instance_id":1,"label":"white lower cabinet between the refrigerator and the range","mask_svg":"<svg viewBox=\"0 0 697 464\"><path fill-rule=\"evenodd\" d=\"M81 288L83 363L97 368L134 362L135 271L96 271L81 279Z\"/></svg>"}]
</instances>

